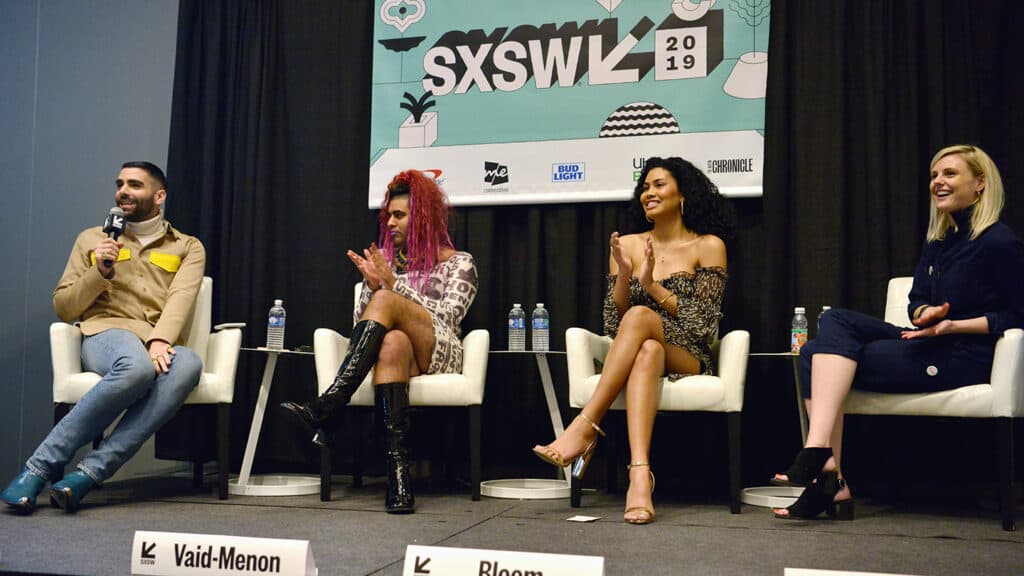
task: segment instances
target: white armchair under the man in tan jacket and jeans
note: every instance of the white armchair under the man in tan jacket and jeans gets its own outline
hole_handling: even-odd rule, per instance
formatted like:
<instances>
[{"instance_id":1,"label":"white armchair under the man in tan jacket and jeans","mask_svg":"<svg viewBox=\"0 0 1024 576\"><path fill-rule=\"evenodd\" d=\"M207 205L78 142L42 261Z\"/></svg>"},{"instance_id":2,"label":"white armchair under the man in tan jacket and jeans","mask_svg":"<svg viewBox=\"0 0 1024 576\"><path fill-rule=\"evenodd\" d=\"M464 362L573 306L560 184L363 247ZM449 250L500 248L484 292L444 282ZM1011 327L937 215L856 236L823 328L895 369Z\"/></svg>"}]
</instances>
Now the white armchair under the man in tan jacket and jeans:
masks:
<instances>
[{"instance_id":1,"label":"white armchair under the man in tan jacket and jeans","mask_svg":"<svg viewBox=\"0 0 1024 576\"><path fill-rule=\"evenodd\" d=\"M184 344L203 360L203 376L185 404L217 405L217 496L223 500L227 498L228 424L242 330L227 328L211 333L212 311L213 279L205 277L193 317L184 329L187 334ZM82 332L78 326L63 322L50 325L50 358L55 425L99 381L99 374L82 370ZM193 480L199 488L203 482L203 462L194 462L194 466Z\"/></svg>"}]
</instances>

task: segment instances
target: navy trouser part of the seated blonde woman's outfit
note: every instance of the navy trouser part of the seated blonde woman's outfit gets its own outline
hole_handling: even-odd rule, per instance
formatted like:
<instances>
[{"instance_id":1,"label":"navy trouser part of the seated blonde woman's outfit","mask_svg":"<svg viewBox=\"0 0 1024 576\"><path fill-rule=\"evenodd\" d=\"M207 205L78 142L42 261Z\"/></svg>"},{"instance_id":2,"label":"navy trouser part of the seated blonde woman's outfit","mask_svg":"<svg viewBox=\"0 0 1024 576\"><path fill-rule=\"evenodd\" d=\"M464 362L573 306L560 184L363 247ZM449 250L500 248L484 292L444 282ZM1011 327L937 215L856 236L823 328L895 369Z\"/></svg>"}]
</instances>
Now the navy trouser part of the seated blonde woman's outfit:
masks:
<instances>
[{"instance_id":1,"label":"navy trouser part of the seated blonde woman's outfit","mask_svg":"<svg viewBox=\"0 0 1024 576\"><path fill-rule=\"evenodd\" d=\"M817 337L800 351L800 383L811 397L815 354L835 354L857 363L853 387L882 393L931 393L987 382L994 338L952 334L900 339L900 328L851 310L826 312Z\"/></svg>"}]
</instances>

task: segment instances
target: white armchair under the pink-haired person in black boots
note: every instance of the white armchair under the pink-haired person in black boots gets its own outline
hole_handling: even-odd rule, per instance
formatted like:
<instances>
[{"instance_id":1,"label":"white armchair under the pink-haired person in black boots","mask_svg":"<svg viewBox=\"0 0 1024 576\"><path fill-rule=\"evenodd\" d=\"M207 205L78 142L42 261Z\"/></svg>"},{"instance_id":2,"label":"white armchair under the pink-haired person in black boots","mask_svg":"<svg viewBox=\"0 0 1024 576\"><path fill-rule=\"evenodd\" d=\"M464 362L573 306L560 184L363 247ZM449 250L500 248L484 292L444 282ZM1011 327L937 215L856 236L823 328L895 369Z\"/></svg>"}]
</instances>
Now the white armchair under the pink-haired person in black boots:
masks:
<instances>
[{"instance_id":1,"label":"white armchair under the pink-haired person in black boots","mask_svg":"<svg viewBox=\"0 0 1024 576\"><path fill-rule=\"evenodd\" d=\"M355 285L353 301L359 301L362 284ZM480 405L483 403L483 384L487 374L487 353L490 333L473 330L462 339L463 364L459 374L424 374L409 383L410 406L464 407L469 415L469 470L473 500L480 499ZM316 363L316 390L323 394L334 382L345 354L348 338L330 328L313 332L313 355ZM373 407L373 371L359 385L349 402L350 407ZM362 486L362 463L359 447L353 442L352 485ZM331 450L321 448L321 500L331 500Z\"/></svg>"}]
</instances>

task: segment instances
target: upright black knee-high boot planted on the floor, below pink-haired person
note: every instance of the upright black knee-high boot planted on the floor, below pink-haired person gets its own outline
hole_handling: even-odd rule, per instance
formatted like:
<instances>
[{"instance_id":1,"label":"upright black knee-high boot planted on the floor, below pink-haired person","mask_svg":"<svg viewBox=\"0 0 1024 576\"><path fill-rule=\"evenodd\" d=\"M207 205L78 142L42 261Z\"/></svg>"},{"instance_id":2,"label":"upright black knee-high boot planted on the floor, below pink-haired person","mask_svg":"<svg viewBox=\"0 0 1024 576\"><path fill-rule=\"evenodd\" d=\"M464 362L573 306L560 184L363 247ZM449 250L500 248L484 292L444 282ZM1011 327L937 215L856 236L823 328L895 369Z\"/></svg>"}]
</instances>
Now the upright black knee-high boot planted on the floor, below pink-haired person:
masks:
<instances>
[{"instance_id":1,"label":"upright black knee-high boot planted on the floor, below pink-haired person","mask_svg":"<svg viewBox=\"0 0 1024 576\"><path fill-rule=\"evenodd\" d=\"M388 513L412 513L416 509L413 479L409 475L409 383L393 382L374 386L377 415L384 422L384 446L387 451L387 496L384 508Z\"/></svg>"}]
</instances>

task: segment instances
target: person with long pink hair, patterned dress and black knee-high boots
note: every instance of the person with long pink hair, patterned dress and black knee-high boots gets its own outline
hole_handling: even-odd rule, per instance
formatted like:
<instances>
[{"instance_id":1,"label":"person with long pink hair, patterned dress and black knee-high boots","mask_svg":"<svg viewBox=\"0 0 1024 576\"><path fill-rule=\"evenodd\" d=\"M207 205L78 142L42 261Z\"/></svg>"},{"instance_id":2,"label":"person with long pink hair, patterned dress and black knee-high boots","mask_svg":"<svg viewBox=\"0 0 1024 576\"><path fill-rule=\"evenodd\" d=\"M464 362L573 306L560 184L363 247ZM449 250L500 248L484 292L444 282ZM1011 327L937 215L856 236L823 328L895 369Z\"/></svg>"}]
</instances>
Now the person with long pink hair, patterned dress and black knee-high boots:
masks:
<instances>
[{"instance_id":1,"label":"person with long pink hair, patterned dress and black knee-high boots","mask_svg":"<svg viewBox=\"0 0 1024 576\"><path fill-rule=\"evenodd\" d=\"M297 415L313 442L325 444L335 416L374 368L374 404L384 423L391 513L415 509L407 455L409 380L420 374L462 371L459 324L476 296L473 256L455 249L447 232L449 204L437 183L418 170L400 172L381 206L380 245L349 259L364 290L348 354L334 383L305 404L282 404Z\"/></svg>"}]
</instances>

